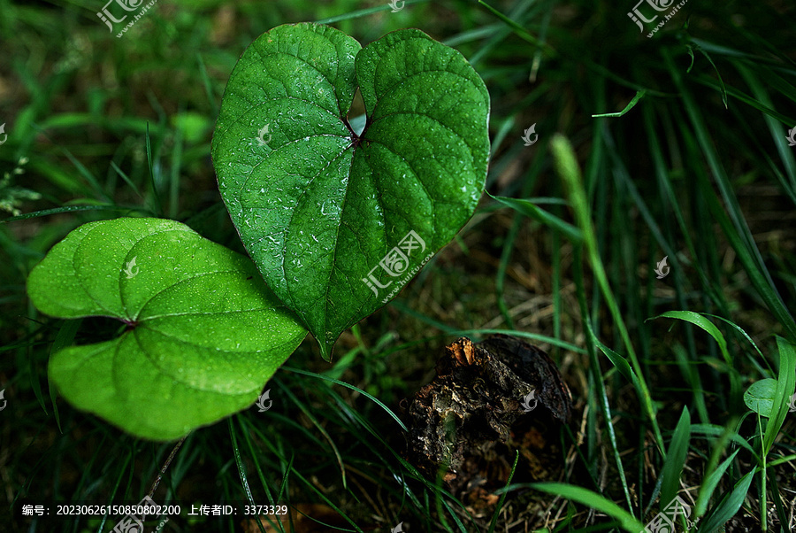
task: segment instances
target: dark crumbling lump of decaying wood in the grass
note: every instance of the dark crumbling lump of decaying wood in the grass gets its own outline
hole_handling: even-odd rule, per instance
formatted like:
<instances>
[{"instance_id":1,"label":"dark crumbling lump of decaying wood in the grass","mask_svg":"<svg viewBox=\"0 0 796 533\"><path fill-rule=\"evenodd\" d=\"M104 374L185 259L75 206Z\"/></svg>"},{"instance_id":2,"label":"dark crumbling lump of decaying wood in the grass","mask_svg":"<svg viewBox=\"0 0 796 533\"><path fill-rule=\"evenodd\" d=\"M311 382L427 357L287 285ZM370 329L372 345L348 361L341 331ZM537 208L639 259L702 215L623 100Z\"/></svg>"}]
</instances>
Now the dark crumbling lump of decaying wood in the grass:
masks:
<instances>
[{"instance_id":1,"label":"dark crumbling lump of decaying wood in the grass","mask_svg":"<svg viewBox=\"0 0 796 533\"><path fill-rule=\"evenodd\" d=\"M474 507L494 505L492 491L557 477L563 467L562 424L570 390L544 351L514 336L473 344L460 338L437 361L437 376L410 399L407 456L430 479ZM463 494L462 494L463 493Z\"/></svg>"}]
</instances>

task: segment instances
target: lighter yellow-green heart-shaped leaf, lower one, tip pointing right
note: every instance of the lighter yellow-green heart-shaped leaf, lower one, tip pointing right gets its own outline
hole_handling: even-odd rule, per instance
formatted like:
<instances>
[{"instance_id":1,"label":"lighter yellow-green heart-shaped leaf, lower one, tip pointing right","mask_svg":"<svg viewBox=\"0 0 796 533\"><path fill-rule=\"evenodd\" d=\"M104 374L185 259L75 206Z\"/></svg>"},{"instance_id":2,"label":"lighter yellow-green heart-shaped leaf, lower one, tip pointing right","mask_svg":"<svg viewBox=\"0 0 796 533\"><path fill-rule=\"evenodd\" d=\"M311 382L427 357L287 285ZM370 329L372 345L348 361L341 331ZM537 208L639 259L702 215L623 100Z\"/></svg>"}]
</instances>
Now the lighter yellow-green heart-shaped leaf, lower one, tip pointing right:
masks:
<instances>
[{"instance_id":1,"label":"lighter yellow-green heart-shaped leaf, lower one, tip pointing right","mask_svg":"<svg viewBox=\"0 0 796 533\"><path fill-rule=\"evenodd\" d=\"M80 226L31 272L52 316L107 316L126 331L50 359L74 406L169 440L251 405L307 332L252 262L173 220Z\"/></svg>"}]
</instances>

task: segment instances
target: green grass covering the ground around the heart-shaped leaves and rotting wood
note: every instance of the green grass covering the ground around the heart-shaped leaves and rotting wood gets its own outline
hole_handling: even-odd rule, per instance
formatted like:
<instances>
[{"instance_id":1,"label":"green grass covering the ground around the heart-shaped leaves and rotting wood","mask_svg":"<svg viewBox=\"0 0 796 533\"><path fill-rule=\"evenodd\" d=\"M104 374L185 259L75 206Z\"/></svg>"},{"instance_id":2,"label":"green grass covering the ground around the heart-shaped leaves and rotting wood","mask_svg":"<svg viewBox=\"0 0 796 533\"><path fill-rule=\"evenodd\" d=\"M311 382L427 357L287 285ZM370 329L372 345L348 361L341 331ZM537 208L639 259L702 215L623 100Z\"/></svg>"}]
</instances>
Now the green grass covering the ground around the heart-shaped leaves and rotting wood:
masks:
<instances>
[{"instance_id":1,"label":"green grass covering the ground around the heart-shaped leaves and rotting wood","mask_svg":"<svg viewBox=\"0 0 796 533\"><path fill-rule=\"evenodd\" d=\"M274 408L190 434L157 503L288 505L319 530L569 531L631 530L677 495L700 531L789 530L796 9L690 0L647 39L627 16L634 4L447 0L392 13L353 0L160 0L117 39L96 17L101 2L0 0L4 510L149 493L174 444L135 440L57 398L50 354L111 332L36 313L27 274L73 228L119 216L180 220L243 251L210 164L220 97L257 35L318 20L363 43L418 27L470 58L492 97L492 197L341 337L331 365L308 339L266 386ZM534 123L539 142L525 147ZM663 256L670 274L658 280ZM556 484L501 480L500 505L477 517L403 459L401 400L456 336L496 331L551 353L577 416L555 436L562 477L539 480ZM743 401L763 378L781 385L770 421ZM528 498L540 515L521 514ZM279 530L187 511L162 530Z\"/></svg>"}]
</instances>

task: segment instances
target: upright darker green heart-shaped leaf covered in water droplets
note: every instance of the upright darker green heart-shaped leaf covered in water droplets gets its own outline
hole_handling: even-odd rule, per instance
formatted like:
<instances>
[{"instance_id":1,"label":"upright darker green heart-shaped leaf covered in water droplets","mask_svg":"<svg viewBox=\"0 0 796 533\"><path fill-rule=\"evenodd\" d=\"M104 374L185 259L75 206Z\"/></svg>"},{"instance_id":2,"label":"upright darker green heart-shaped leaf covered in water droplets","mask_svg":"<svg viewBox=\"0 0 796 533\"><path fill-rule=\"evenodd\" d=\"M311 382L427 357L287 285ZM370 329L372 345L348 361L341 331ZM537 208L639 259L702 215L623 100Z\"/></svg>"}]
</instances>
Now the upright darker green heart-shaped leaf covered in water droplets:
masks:
<instances>
[{"instance_id":1,"label":"upright darker green heart-shaped leaf covered in water droplets","mask_svg":"<svg viewBox=\"0 0 796 533\"><path fill-rule=\"evenodd\" d=\"M356 89L367 120L347 120ZM489 94L419 30L364 49L331 27L273 28L243 53L213 135L241 239L331 358L470 219L489 158Z\"/></svg>"}]
</instances>

